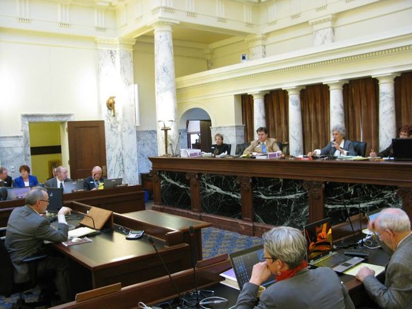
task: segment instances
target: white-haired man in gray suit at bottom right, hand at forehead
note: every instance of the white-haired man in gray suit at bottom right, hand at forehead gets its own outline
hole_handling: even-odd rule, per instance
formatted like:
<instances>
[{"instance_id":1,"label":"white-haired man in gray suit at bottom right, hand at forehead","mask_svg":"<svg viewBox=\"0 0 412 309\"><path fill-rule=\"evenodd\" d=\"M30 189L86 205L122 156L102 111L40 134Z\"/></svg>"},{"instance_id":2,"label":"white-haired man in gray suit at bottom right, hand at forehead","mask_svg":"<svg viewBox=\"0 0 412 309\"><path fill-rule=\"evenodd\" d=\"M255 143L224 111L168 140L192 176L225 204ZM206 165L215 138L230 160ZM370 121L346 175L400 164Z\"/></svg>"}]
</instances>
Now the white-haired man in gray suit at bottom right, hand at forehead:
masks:
<instances>
[{"instance_id":1,"label":"white-haired man in gray suit at bottom right, hand at forehead","mask_svg":"<svg viewBox=\"0 0 412 309\"><path fill-rule=\"evenodd\" d=\"M393 254L386 266L385 284L375 277L375 272L364 266L356 277L381 308L412 307L412 234L408 215L399 208L386 208L369 222L374 231Z\"/></svg>"}]
</instances>

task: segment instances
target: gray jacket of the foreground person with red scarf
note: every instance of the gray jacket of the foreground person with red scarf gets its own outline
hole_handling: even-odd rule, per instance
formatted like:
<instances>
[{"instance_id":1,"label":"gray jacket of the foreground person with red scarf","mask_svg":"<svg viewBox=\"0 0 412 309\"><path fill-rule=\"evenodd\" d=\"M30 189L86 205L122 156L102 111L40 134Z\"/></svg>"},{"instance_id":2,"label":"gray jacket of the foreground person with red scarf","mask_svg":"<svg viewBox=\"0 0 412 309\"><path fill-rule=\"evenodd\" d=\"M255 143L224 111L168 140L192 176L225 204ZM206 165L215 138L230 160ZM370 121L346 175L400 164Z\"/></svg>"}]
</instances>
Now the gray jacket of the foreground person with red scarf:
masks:
<instances>
[{"instance_id":1,"label":"gray jacket of the foreground person with red scarf","mask_svg":"<svg viewBox=\"0 0 412 309\"><path fill-rule=\"evenodd\" d=\"M338 275L327 267L301 270L296 276L271 285L260 295L258 286L246 283L239 295L237 309L355 309Z\"/></svg>"}]
</instances>

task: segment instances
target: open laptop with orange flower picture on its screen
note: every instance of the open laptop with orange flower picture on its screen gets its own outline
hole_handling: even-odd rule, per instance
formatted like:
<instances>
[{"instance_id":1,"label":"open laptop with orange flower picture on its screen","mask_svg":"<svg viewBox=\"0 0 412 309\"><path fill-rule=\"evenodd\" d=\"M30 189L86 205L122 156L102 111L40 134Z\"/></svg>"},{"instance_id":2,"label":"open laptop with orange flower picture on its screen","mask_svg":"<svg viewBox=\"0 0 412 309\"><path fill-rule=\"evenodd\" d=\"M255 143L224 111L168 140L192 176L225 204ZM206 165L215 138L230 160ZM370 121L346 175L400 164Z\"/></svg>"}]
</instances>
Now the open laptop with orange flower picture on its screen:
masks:
<instances>
[{"instance_id":1,"label":"open laptop with orange flower picture on its screen","mask_svg":"<svg viewBox=\"0 0 412 309\"><path fill-rule=\"evenodd\" d=\"M343 272L364 260L333 251L330 218L305 225L303 232L308 242L306 258L311 266L330 267L336 272Z\"/></svg>"}]
</instances>

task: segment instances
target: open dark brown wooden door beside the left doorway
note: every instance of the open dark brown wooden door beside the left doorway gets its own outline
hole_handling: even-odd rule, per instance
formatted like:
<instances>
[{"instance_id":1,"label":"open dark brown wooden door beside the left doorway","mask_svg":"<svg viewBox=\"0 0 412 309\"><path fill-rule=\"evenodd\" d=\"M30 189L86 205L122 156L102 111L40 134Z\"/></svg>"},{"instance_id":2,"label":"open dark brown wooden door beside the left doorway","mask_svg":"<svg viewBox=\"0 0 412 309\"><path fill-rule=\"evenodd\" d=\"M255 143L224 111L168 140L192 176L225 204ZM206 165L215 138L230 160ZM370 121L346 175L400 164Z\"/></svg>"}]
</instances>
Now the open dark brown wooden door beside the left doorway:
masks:
<instances>
[{"instance_id":1,"label":"open dark brown wooden door beside the left doorway","mask_svg":"<svg viewBox=\"0 0 412 309\"><path fill-rule=\"evenodd\" d=\"M95 166L107 177L104 121L68 121L70 177L80 179L92 174Z\"/></svg>"}]
</instances>

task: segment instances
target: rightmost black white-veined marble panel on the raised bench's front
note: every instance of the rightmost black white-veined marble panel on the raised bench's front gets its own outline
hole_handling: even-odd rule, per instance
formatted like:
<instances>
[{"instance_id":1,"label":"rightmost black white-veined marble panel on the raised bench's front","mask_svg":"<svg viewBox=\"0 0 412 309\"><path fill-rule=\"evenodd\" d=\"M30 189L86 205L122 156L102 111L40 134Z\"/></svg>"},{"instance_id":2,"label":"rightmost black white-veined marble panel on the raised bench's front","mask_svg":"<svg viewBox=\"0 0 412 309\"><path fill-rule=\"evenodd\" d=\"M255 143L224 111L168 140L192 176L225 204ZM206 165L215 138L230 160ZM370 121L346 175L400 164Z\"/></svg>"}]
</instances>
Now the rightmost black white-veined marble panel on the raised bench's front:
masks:
<instances>
[{"instance_id":1,"label":"rightmost black white-veined marble panel on the raised bench's front","mask_svg":"<svg viewBox=\"0 0 412 309\"><path fill-rule=\"evenodd\" d=\"M346 221L350 215L384 208L402 207L402 200L396 196L396 187L359 183L325 183L325 218L330 217L332 224Z\"/></svg>"}]
</instances>

